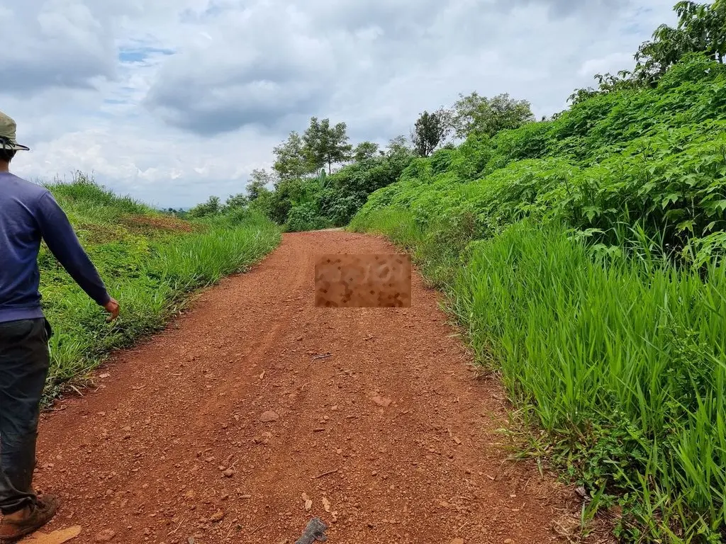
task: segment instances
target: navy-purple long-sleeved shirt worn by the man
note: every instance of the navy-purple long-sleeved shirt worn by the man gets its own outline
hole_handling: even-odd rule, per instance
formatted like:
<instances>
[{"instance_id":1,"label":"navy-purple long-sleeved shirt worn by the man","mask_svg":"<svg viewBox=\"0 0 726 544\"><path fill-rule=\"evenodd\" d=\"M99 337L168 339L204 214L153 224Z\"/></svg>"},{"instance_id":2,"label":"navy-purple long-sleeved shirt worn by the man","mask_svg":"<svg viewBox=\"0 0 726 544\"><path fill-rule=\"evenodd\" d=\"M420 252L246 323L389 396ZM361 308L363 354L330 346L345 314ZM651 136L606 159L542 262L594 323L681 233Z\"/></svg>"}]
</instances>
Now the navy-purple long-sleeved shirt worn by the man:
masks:
<instances>
[{"instance_id":1,"label":"navy-purple long-sleeved shirt worn by the man","mask_svg":"<svg viewBox=\"0 0 726 544\"><path fill-rule=\"evenodd\" d=\"M38 291L41 239L89 297L102 306L110 300L53 195L0 172L0 323L43 317Z\"/></svg>"}]
</instances>

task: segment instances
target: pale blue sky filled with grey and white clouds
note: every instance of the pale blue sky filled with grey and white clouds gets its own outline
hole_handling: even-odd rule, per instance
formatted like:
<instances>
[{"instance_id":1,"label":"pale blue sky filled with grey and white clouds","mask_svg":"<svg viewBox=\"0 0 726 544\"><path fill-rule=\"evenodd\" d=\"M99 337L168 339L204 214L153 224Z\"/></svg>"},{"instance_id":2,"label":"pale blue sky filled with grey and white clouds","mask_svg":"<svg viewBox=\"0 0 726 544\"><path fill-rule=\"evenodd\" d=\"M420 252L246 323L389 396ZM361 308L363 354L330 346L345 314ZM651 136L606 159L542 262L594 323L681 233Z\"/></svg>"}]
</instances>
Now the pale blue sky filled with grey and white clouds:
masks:
<instances>
[{"instance_id":1,"label":"pale blue sky filled with grey and white clouds","mask_svg":"<svg viewBox=\"0 0 726 544\"><path fill-rule=\"evenodd\" d=\"M0 5L12 170L189 207L245 190L311 116L408 135L460 94L535 115L632 68L674 0L24 0Z\"/></svg>"}]
</instances>

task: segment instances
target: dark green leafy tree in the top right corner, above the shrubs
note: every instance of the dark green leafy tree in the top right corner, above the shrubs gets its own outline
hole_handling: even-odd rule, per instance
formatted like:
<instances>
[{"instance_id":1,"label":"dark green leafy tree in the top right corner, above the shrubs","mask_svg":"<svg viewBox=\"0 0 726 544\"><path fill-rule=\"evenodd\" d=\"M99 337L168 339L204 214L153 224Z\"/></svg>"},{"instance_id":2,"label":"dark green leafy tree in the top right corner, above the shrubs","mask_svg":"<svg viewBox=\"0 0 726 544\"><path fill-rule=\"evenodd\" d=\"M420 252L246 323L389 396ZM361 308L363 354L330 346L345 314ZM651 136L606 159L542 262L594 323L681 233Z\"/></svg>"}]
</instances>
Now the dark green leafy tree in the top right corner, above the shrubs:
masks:
<instances>
[{"instance_id":1,"label":"dark green leafy tree in the top right corner, above the shrubs","mask_svg":"<svg viewBox=\"0 0 726 544\"><path fill-rule=\"evenodd\" d=\"M724 62L726 0L716 0L713 4L683 0L673 9L678 16L676 27L659 26L653 39L643 43L635 54L638 81L654 83L687 53L703 52L711 59Z\"/></svg>"}]
</instances>

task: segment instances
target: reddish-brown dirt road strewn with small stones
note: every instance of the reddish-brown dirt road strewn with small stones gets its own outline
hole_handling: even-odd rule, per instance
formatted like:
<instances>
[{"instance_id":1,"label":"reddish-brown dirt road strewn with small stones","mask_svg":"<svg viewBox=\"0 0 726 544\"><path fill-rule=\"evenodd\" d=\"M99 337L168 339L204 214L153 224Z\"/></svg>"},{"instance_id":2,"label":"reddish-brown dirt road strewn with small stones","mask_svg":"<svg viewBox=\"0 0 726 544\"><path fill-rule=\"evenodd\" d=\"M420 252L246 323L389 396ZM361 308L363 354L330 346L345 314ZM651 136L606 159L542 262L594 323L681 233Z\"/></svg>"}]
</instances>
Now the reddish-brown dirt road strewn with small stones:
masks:
<instances>
[{"instance_id":1,"label":"reddish-brown dirt road strewn with small stones","mask_svg":"<svg viewBox=\"0 0 726 544\"><path fill-rule=\"evenodd\" d=\"M502 392L475 379L436 292L416 277L412 308L314 307L314 255L393 251L287 234L114 355L97 392L41 422L37 487L63 500L49 529L81 525L73 543L292 544L320 516L330 543L554 540L563 501L504 463Z\"/></svg>"}]
</instances>

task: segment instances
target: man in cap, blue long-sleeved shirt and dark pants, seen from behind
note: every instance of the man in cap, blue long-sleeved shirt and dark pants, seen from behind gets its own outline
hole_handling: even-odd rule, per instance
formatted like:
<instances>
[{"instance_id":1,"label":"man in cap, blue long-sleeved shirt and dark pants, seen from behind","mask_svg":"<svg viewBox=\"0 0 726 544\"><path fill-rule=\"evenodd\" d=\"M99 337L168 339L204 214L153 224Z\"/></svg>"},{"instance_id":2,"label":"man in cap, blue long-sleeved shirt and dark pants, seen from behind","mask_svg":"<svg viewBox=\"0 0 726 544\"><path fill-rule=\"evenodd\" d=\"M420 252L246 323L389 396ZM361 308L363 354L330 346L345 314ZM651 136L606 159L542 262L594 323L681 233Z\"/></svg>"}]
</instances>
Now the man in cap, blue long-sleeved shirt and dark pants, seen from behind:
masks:
<instances>
[{"instance_id":1,"label":"man in cap, blue long-sleeved shirt and dark pants, seen from behind","mask_svg":"<svg viewBox=\"0 0 726 544\"><path fill-rule=\"evenodd\" d=\"M41 394L52 334L38 292L38 250L49 250L78 285L118 316L63 210L41 186L9 173L17 151L15 121L0 112L0 543L20 540L49 522L57 499L33 491Z\"/></svg>"}]
</instances>

